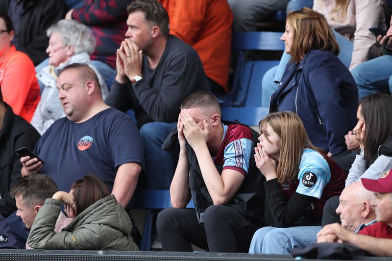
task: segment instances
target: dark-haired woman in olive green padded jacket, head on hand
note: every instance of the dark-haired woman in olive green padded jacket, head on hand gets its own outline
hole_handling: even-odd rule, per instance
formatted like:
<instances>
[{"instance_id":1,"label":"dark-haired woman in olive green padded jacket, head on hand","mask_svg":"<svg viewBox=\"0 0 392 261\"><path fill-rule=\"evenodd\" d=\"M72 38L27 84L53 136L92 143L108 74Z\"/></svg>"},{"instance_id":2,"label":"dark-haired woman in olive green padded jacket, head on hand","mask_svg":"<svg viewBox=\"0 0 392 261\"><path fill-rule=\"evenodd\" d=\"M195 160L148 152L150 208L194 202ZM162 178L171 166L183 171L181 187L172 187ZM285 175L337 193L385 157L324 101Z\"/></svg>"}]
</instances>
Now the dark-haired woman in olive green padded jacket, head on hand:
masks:
<instances>
[{"instance_id":1,"label":"dark-haired woman in olive green padded jacket, head on hand","mask_svg":"<svg viewBox=\"0 0 392 261\"><path fill-rule=\"evenodd\" d=\"M56 234L60 203L73 221ZM87 175L73 183L70 193L58 191L46 199L27 241L35 249L138 250L131 229L123 206L102 181Z\"/></svg>"}]
</instances>

